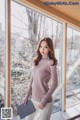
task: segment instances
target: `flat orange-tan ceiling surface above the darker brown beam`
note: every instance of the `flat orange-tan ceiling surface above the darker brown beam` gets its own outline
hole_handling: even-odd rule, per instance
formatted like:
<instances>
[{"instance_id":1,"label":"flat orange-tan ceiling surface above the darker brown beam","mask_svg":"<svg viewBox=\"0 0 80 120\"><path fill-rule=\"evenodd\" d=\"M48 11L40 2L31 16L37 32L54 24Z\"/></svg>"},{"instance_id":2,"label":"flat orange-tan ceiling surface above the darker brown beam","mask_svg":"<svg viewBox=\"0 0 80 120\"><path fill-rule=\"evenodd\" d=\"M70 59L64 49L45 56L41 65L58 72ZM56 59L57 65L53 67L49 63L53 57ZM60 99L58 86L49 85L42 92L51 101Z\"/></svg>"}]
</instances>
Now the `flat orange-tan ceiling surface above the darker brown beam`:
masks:
<instances>
[{"instance_id":1,"label":"flat orange-tan ceiling surface above the darker brown beam","mask_svg":"<svg viewBox=\"0 0 80 120\"><path fill-rule=\"evenodd\" d=\"M49 7L53 7L55 10L58 10L59 12L71 17L72 19L80 22L80 0L40 0L42 2L58 2L58 1L64 1L64 2L79 2L79 5L49 5Z\"/></svg>"}]
</instances>

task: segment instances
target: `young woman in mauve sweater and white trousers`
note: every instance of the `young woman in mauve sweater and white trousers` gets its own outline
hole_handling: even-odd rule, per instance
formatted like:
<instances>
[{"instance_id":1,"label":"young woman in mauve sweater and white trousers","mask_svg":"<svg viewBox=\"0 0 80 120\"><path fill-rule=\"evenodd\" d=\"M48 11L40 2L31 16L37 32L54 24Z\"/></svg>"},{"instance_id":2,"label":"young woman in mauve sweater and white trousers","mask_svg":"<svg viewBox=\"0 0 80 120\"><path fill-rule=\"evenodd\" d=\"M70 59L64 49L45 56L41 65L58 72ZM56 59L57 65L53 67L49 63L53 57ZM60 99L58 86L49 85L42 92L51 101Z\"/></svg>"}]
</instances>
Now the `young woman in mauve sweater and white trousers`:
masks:
<instances>
[{"instance_id":1,"label":"young woman in mauve sweater and white trousers","mask_svg":"<svg viewBox=\"0 0 80 120\"><path fill-rule=\"evenodd\" d=\"M26 117L26 120L50 120L53 106L52 93L58 86L57 60L52 40L50 38L42 39L36 52L28 93L24 99L26 104L30 95L32 96L31 100L36 112ZM49 81L51 82L49 83Z\"/></svg>"}]
</instances>

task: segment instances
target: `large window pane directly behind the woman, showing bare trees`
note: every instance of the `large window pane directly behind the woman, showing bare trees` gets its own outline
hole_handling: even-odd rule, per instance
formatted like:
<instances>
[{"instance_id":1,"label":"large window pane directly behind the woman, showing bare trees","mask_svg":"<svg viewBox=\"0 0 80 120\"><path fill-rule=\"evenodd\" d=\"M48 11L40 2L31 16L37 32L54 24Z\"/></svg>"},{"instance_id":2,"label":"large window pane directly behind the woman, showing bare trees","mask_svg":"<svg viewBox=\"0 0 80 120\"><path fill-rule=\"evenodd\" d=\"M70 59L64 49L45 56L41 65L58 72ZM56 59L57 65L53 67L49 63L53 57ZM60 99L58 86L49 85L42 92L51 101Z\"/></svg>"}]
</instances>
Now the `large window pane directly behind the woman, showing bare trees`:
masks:
<instances>
[{"instance_id":1,"label":"large window pane directly behind the woman, showing bare trees","mask_svg":"<svg viewBox=\"0 0 80 120\"><path fill-rule=\"evenodd\" d=\"M39 40L43 37L53 39L55 55L58 60L58 80L61 81L62 24L18 3L11 2L11 104L14 115L26 93L33 67L33 58ZM60 110L59 93L53 112Z\"/></svg>"}]
</instances>

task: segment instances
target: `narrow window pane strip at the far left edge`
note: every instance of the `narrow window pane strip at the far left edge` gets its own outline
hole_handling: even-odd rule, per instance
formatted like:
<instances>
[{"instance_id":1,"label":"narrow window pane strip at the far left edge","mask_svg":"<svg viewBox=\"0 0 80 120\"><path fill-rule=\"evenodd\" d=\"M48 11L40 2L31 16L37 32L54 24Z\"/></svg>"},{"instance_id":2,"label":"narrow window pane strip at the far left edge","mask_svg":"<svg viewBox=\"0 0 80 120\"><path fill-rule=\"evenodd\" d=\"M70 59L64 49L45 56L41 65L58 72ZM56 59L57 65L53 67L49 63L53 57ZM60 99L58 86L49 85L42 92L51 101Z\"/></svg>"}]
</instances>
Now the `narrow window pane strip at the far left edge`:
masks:
<instances>
[{"instance_id":1,"label":"narrow window pane strip at the far left edge","mask_svg":"<svg viewBox=\"0 0 80 120\"><path fill-rule=\"evenodd\" d=\"M0 108L4 106L5 94L5 1L0 0Z\"/></svg>"}]
</instances>

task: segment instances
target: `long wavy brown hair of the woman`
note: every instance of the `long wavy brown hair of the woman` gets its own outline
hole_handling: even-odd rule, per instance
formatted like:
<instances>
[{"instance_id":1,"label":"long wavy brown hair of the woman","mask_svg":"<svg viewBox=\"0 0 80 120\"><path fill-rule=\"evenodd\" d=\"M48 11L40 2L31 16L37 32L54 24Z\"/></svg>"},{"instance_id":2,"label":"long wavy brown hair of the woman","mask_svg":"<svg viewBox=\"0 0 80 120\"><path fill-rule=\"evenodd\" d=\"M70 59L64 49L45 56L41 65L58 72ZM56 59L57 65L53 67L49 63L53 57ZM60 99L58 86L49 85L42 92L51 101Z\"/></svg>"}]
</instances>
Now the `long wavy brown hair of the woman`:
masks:
<instances>
[{"instance_id":1,"label":"long wavy brown hair of the woman","mask_svg":"<svg viewBox=\"0 0 80 120\"><path fill-rule=\"evenodd\" d=\"M40 45L41 45L42 41L46 41L46 43L48 45L48 48L49 48L48 57L49 57L49 59L53 60L53 65L56 65L57 64L57 59L55 58L53 41L49 37L47 37L47 38L45 37L44 39L42 39L38 43L38 46L37 46L37 49L36 49L37 56L34 58L34 64L38 65L39 61L42 59L42 55L40 54L40 51L39 51L39 48L40 48Z\"/></svg>"}]
</instances>

